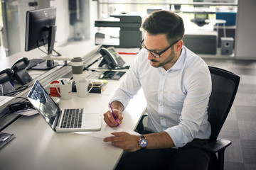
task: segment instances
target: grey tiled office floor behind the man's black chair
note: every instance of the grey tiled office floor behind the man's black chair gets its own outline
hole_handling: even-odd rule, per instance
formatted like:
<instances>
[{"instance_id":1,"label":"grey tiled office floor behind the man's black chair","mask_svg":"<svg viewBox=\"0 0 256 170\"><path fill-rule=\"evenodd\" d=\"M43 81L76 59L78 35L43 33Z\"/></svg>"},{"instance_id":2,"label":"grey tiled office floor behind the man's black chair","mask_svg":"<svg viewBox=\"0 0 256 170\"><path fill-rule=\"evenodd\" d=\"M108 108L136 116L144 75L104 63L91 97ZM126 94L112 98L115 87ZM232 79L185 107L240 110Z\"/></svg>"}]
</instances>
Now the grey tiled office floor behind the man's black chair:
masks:
<instances>
[{"instance_id":1,"label":"grey tiled office floor behind the man's black chair","mask_svg":"<svg viewBox=\"0 0 256 170\"><path fill-rule=\"evenodd\" d=\"M225 151L225 170L255 170L256 61L203 60L210 66L227 69L241 78L233 107L219 135L219 138L232 141Z\"/></svg>"}]
</instances>

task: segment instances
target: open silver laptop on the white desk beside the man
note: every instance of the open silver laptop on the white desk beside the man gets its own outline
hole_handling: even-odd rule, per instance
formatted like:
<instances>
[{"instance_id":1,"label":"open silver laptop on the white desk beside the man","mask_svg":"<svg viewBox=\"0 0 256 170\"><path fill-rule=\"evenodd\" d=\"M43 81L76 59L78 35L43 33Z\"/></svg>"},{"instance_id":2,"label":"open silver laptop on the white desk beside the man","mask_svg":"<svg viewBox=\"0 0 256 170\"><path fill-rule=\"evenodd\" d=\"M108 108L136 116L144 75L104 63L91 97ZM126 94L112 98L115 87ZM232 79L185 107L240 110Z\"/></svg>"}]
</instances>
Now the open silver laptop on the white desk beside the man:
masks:
<instances>
[{"instance_id":1,"label":"open silver laptop on the white desk beside the man","mask_svg":"<svg viewBox=\"0 0 256 170\"><path fill-rule=\"evenodd\" d=\"M101 128L100 113L85 113L85 108L60 109L37 80L27 97L55 132L94 131Z\"/></svg>"}]
</instances>

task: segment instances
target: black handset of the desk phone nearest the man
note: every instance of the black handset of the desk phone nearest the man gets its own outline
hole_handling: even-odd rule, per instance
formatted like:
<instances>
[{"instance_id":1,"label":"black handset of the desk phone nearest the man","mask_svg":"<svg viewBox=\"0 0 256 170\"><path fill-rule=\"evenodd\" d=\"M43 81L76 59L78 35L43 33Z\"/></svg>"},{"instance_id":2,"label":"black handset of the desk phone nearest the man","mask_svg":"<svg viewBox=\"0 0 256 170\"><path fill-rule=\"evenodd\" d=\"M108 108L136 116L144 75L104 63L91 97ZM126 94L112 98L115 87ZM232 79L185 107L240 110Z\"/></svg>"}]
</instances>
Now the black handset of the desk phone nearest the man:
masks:
<instances>
[{"instance_id":1,"label":"black handset of the desk phone nearest the man","mask_svg":"<svg viewBox=\"0 0 256 170\"><path fill-rule=\"evenodd\" d=\"M114 69L115 67L118 66L117 60L115 57L110 53L107 48L102 47L100 48L100 55L102 55L103 60L100 62L99 67L102 67L102 65L107 64L108 67Z\"/></svg>"}]
</instances>

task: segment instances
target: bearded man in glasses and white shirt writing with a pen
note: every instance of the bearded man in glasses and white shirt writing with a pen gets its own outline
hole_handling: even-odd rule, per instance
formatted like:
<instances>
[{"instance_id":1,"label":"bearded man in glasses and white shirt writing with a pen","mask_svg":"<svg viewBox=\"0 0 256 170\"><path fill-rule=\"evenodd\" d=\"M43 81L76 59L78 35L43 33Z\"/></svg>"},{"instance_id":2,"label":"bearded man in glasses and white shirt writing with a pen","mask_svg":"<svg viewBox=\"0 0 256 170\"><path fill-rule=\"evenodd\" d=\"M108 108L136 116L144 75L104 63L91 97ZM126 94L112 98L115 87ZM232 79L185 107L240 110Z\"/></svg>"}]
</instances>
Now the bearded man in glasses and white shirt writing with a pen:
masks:
<instances>
[{"instance_id":1,"label":"bearded man in glasses and white shirt writing with a pen","mask_svg":"<svg viewBox=\"0 0 256 170\"><path fill-rule=\"evenodd\" d=\"M210 137L208 100L211 79L201 57L183 46L183 20L171 11L156 11L144 23L142 50L111 103L118 123L122 111L142 87L149 114L144 136L114 132L105 142L125 152L117 169L207 169L210 156L197 146ZM110 111L104 114L116 127Z\"/></svg>"}]
</instances>

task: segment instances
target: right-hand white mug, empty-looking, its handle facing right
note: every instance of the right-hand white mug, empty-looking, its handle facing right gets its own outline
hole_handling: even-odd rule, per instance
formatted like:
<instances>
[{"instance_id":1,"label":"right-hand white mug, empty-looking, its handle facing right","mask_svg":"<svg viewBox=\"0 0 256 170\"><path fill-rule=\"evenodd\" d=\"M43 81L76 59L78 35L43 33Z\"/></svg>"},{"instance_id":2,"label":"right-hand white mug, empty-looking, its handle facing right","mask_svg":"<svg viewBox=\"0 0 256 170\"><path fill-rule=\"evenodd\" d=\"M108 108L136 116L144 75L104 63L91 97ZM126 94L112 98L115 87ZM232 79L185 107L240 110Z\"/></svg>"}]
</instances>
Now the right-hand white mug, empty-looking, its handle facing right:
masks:
<instances>
[{"instance_id":1,"label":"right-hand white mug, empty-looking, its handle facing right","mask_svg":"<svg viewBox=\"0 0 256 170\"><path fill-rule=\"evenodd\" d=\"M92 86L88 90L89 84L93 86L92 81L89 80L80 79L75 81L78 97L86 97L89 94L89 92L92 90Z\"/></svg>"}]
</instances>

